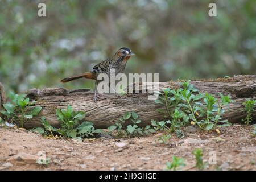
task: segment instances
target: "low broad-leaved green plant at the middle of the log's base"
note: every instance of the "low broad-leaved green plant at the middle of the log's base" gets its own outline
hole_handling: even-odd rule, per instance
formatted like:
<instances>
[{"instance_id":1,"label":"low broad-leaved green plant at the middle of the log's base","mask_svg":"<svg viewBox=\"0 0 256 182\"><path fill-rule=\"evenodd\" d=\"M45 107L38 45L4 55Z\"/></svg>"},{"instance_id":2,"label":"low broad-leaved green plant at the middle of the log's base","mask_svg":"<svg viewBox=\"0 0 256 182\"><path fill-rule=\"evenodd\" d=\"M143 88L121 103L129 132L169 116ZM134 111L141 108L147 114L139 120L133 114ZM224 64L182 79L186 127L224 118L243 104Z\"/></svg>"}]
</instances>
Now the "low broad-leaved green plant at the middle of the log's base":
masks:
<instances>
[{"instance_id":1,"label":"low broad-leaved green plant at the middle of the log's base","mask_svg":"<svg viewBox=\"0 0 256 182\"><path fill-rule=\"evenodd\" d=\"M115 122L115 125L108 127L108 131L112 132L117 129L119 136L127 135L129 137L137 134L144 135L155 132L150 125L147 125L146 127L139 127L137 124L141 123L141 120L138 118L138 114L134 111L126 112L121 118L119 118L119 121ZM130 122L131 124L124 127L125 122Z\"/></svg>"}]
</instances>

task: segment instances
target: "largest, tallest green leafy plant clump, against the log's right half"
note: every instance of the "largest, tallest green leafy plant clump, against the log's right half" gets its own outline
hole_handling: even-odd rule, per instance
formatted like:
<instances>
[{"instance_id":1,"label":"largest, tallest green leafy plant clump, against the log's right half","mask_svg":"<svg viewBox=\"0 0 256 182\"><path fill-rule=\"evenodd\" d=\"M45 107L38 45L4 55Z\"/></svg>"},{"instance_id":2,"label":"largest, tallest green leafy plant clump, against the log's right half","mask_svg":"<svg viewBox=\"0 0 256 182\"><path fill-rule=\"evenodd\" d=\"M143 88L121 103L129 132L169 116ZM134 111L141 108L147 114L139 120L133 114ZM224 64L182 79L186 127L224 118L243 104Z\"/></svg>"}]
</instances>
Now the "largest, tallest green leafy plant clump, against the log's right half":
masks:
<instances>
[{"instance_id":1,"label":"largest, tallest green leafy plant clump, against the log's right half","mask_svg":"<svg viewBox=\"0 0 256 182\"><path fill-rule=\"evenodd\" d=\"M159 98L155 103L163 105L166 110L158 109L160 113L168 118L167 123L170 127L163 126L162 123L156 125L156 129L162 128L170 132L180 129L191 121L203 130L213 130L221 123L221 126L230 126L227 120L221 119L221 114L225 112L224 106L228 105L231 100L229 96L220 95L220 99L212 94L200 93L195 89L190 81L182 82L182 88L164 89L159 92ZM155 126L155 123L154 123Z\"/></svg>"}]
</instances>

